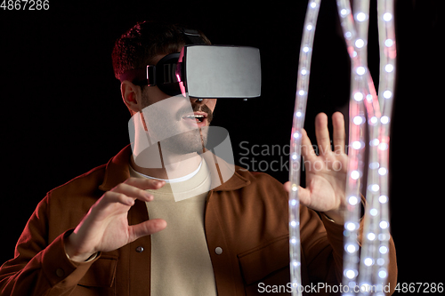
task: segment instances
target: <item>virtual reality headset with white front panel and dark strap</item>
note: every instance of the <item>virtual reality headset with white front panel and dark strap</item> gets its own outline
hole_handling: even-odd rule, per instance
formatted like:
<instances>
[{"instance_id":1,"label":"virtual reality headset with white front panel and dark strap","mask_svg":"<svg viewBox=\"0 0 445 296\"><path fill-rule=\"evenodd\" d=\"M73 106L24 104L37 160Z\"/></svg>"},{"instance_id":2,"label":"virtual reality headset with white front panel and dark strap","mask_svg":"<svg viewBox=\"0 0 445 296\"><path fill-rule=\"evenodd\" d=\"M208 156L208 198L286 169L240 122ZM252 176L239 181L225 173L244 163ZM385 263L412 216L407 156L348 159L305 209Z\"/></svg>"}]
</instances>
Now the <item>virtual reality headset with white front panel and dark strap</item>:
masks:
<instances>
[{"instance_id":1,"label":"virtual reality headset with white front panel and dark strap","mask_svg":"<svg viewBox=\"0 0 445 296\"><path fill-rule=\"evenodd\" d=\"M155 86L170 96L198 99L250 99L261 95L260 51L255 47L206 45L198 31L184 29L190 41L181 52L156 65L124 73L121 81Z\"/></svg>"}]
</instances>

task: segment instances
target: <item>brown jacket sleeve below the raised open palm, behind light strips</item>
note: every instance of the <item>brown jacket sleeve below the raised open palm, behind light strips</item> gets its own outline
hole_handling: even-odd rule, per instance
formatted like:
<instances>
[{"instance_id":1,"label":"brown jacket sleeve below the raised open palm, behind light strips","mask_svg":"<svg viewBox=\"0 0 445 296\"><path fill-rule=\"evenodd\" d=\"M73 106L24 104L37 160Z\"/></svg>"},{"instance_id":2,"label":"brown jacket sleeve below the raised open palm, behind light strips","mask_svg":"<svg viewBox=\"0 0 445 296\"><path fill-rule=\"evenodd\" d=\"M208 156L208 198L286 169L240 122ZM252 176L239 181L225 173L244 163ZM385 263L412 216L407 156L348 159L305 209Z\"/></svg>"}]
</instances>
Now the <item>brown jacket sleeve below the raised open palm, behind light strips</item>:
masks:
<instances>
[{"instance_id":1,"label":"brown jacket sleeve below the raised open palm, behind light strips","mask_svg":"<svg viewBox=\"0 0 445 296\"><path fill-rule=\"evenodd\" d=\"M321 218L320 218L321 217ZM344 225L329 220L305 206L300 211L302 256L312 283L339 286L343 280ZM361 223L362 224L362 223ZM362 232L360 225L360 233ZM361 237L361 235L360 235ZM361 245L361 242L359 242ZM392 237L389 242L388 284L391 295L397 284L397 263Z\"/></svg>"}]
</instances>

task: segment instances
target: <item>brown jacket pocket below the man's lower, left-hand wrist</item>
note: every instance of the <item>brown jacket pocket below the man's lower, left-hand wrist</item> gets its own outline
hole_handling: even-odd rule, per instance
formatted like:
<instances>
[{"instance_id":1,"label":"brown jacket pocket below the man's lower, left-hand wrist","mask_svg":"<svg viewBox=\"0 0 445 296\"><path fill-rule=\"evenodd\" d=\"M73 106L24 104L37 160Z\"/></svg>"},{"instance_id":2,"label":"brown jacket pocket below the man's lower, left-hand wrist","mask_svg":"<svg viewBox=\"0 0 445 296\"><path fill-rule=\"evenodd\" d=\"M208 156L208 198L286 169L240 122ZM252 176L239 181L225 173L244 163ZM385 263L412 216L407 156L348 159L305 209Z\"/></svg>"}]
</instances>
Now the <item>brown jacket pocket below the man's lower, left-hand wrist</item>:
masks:
<instances>
[{"instance_id":1,"label":"brown jacket pocket below the man's lower, left-hand wrist","mask_svg":"<svg viewBox=\"0 0 445 296\"><path fill-rule=\"evenodd\" d=\"M116 267L117 257L102 253L101 258L91 265L78 284L87 287L111 287L116 276Z\"/></svg>"}]
</instances>

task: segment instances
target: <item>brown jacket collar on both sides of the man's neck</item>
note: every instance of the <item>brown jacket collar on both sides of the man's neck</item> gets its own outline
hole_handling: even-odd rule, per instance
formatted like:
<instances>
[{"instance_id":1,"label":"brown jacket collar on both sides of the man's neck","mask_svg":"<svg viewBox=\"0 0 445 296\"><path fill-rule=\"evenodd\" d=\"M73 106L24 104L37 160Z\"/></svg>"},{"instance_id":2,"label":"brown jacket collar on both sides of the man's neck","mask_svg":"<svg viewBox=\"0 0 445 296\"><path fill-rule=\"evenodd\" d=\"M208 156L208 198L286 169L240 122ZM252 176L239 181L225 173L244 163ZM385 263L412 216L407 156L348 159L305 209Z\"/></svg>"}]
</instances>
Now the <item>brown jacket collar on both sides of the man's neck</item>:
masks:
<instances>
[{"instance_id":1,"label":"brown jacket collar on both sides of the man's neck","mask_svg":"<svg viewBox=\"0 0 445 296\"><path fill-rule=\"evenodd\" d=\"M130 164L130 156L132 156L132 147L131 145L127 145L117 153L117 156L114 156L109 160L105 167L103 182L99 186L99 189L102 191L109 191L112 188L115 188L117 184L130 178L130 169L128 166ZM214 188L214 191L235 190L250 184L250 180L242 177L237 172L239 170L238 166L235 166L235 172L233 172L231 178L223 182L223 180L221 180L222 176L230 175L233 171L233 165L226 163L222 158L215 156L210 151L207 151L203 156L206 159L206 163L209 165L212 180L220 180L218 184L222 183Z\"/></svg>"}]
</instances>

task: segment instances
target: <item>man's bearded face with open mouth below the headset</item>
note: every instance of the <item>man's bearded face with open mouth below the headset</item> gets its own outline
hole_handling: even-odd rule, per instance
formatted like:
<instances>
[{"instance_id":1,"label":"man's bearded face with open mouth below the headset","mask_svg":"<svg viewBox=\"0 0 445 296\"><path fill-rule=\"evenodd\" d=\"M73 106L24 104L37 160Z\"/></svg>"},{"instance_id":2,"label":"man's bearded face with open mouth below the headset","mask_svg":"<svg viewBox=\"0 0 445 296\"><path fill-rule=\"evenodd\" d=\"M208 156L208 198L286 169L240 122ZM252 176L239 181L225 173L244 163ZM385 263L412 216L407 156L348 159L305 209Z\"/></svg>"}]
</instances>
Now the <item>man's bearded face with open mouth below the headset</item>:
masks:
<instances>
[{"instance_id":1,"label":"man's bearded face with open mouth below the headset","mask_svg":"<svg viewBox=\"0 0 445 296\"><path fill-rule=\"evenodd\" d=\"M145 87L142 92L142 114L150 140L179 155L203 150L215 105L216 99L170 97L158 86Z\"/></svg>"}]
</instances>

